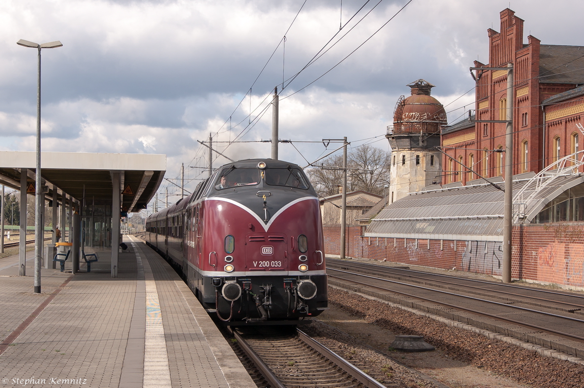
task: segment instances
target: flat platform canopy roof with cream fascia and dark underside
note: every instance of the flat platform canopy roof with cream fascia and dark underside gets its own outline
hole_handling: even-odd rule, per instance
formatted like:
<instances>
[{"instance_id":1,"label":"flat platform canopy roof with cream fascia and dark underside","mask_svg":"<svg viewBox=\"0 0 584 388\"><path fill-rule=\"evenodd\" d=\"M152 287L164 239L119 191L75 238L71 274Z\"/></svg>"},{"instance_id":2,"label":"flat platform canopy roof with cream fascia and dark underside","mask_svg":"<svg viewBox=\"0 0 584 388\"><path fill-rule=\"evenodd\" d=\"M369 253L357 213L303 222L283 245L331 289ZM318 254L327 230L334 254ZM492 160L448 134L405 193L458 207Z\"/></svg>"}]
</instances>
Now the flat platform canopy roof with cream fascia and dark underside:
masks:
<instances>
[{"instance_id":1,"label":"flat platform canopy roof with cream fascia and dark underside","mask_svg":"<svg viewBox=\"0 0 584 388\"><path fill-rule=\"evenodd\" d=\"M36 152L0 151L0 184L20 190L20 172L28 170L34 193ZM158 190L166 155L132 153L41 152L41 179L47 199L68 194L81 202L112 204L113 174L120 173L121 208L138 212ZM30 186L32 185L32 186ZM32 187L32 189L31 189Z\"/></svg>"}]
</instances>

